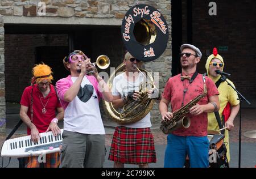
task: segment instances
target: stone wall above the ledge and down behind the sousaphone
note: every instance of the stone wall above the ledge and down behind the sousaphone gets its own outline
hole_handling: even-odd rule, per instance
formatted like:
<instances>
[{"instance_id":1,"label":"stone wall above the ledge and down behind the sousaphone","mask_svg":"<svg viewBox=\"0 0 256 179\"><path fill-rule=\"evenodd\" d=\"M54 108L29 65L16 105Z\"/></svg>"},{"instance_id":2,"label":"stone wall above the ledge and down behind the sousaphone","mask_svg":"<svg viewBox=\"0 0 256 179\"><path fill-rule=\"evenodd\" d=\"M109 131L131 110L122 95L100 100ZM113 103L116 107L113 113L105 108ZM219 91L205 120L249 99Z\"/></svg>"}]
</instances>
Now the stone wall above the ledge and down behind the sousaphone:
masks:
<instances>
[{"instance_id":1,"label":"stone wall above the ledge and down behind the sousaphone","mask_svg":"<svg viewBox=\"0 0 256 179\"><path fill-rule=\"evenodd\" d=\"M44 2L46 5L46 13L43 15L38 13L43 12L42 8L39 7L39 2ZM159 75L159 81L156 79L156 83L160 91L163 91L164 82L171 76L171 1L169 0L3 0L0 2L0 14L4 16L5 23L8 24L104 24L120 26L127 10L136 5L137 2L157 8L168 24L170 38L166 51L160 58L144 65L146 70L154 71L157 76ZM102 23L102 19L105 20L104 23ZM122 46L118 48L122 49ZM28 78L30 78L30 74L27 74L26 80ZM4 85L4 81L2 82ZM20 91L22 90L20 89ZM158 104L155 104L151 116L152 122L159 122Z\"/></svg>"}]
</instances>

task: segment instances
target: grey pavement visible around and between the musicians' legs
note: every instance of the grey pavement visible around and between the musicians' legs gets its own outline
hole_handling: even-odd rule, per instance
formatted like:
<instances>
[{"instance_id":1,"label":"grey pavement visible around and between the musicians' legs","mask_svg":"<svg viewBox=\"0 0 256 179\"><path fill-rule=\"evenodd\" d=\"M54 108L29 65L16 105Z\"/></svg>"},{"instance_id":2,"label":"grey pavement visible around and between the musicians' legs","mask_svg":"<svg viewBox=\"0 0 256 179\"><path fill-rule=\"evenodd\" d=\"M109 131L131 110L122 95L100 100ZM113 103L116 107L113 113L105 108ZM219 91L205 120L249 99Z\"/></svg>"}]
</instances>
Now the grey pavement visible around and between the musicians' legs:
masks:
<instances>
[{"instance_id":1,"label":"grey pavement visible around and between the musicians' legs","mask_svg":"<svg viewBox=\"0 0 256 179\"><path fill-rule=\"evenodd\" d=\"M241 116L241 167L243 168L254 168L256 167L256 139L247 138L243 135L246 131L256 130L256 99L250 100L251 105L245 103L242 104L242 116ZM19 104L6 103L6 134L14 128L16 123L19 121ZM156 149L156 163L149 164L152 168L162 168L164 161L164 151L166 148L166 138L167 135L163 134L159 130L159 123L152 123L152 134L154 135L155 149ZM108 160L110 145L112 142L112 135L114 133L114 128L117 126L115 122L104 121L105 132L106 132L106 149L107 154L105 157L105 168L112 168L113 161ZM240 126L240 115L238 113L236 119L234 120L234 129L230 131L230 167L237 168L239 161L239 126ZM59 122L59 127L63 128L63 122ZM19 129L13 135L13 138L20 137L21 135L26 135L26 126L22 124ZM6 135L0 135L0 146L2 146ZM3 166L7 165L9 159L6 157L1 157L0 162L3 158ZM7 168L17 168L19 166L18 160L11 158L10 164ZM0 166L1 167L1 166ZM137 168L137 165L125 164L125 167Z\"/></svg>"}]
</instances>

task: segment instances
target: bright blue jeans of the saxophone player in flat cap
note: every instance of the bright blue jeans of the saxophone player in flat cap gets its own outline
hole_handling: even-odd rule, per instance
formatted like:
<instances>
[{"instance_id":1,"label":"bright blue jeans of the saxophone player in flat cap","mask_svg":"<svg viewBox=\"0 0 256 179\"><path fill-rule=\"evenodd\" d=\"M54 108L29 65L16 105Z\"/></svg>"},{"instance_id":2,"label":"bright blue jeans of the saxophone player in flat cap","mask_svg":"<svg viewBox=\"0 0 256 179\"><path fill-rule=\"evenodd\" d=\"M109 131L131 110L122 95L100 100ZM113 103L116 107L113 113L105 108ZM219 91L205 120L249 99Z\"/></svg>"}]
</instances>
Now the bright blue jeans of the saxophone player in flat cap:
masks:
<instances>
[{"instance_id":1,"label":"bright blue jeans of the saxophone player in flat cap","mask_svg":"<svg viewBox=\"0 0 256 179\"><path fill-rule=\"evenodd\" d=\"M167 136L164 167L184 167L186 156L189 156L190 167L209 167L209 140L205 137L182 137L173 134Z\"/></svg>"}]
</instances>

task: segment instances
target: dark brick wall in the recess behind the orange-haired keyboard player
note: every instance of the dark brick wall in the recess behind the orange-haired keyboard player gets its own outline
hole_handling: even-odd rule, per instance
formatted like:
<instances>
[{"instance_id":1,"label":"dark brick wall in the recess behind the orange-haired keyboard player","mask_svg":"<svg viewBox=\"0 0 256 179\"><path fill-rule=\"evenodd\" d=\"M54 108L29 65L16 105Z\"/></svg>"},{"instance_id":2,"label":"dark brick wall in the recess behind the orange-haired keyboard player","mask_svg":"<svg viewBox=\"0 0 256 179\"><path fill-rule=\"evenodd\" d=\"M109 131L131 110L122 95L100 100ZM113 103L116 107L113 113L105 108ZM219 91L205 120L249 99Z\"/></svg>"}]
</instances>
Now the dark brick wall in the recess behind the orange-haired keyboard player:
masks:
<instances>
[{"instance_id":1,"label":"dark brick wall in the recess behind the orange-haired keyboard player","mask_svg":"<svg viewBox=\"0 0 256 179\"><path fill-rule=\"evenodd\" d=\"M19 103L24 88L30 85L37 46L65 45L67 35L5 35L6 101Z\"/></svg>"}]
</instances>

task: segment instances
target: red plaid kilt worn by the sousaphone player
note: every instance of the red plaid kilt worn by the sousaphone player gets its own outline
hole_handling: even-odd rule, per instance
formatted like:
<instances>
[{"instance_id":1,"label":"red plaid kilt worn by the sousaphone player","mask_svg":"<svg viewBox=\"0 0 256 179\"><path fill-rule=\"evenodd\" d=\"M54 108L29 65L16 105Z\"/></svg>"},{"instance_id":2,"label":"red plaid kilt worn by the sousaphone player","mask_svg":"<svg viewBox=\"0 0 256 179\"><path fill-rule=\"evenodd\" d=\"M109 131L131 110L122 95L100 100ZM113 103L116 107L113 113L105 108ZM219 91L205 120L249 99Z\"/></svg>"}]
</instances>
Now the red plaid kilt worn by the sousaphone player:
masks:
<instances>
[{"instance_id":1,"label":"red plaid kilt worn by the sousaphone player","mask_svg":"<svg viewBox=\"0 0 256 179\"><path fill-rule=\"evenodd\" d=\"M156 163L154 138L150 127L115 127L109 160L137 165Z\"/></svg>"}]
</instances>

